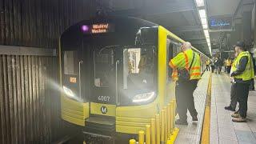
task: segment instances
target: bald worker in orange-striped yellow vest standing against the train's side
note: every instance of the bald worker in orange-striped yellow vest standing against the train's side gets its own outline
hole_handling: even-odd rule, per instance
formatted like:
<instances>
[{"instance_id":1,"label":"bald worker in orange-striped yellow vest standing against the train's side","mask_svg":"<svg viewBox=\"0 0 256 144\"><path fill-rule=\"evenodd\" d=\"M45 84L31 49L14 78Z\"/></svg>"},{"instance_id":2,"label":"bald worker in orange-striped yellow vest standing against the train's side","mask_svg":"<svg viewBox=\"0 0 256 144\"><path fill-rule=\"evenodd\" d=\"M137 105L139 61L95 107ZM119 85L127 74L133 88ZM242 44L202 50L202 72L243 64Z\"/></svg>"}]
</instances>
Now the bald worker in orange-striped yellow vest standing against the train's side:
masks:
<instances>
[{"instance_id":1,"label":"bald worker in orange-striped yellow vest standing against the train's side","mask_svg":"<svg viewBox=\"0 0 256 144\"><path fill-rule=\"evenodd\" d=\"M193 92L201 78L200 56L191 49L190 42L184 42L182 52L170 60L169 66L173 69L172 78L176 81L175 97L179 119L176 124L187 125L187 110L190 111L193 121L198 121L198 112L194 106Z\"/></svg>"}]
</instances>

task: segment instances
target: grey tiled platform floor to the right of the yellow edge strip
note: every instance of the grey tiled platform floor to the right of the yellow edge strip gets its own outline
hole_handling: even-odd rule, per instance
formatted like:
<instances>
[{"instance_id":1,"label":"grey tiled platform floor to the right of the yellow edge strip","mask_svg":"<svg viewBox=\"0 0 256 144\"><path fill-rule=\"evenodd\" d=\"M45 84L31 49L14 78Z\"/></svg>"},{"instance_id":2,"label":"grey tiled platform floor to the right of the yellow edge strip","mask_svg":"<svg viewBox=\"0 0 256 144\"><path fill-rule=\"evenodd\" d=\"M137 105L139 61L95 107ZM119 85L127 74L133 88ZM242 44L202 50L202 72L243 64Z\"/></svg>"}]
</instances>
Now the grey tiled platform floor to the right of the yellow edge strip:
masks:
<instances>
[{"instance_id":1,"label":"grey tiled platform floor to the right of the yellow edge strip","mask_svg":"<svg viewBox=\"0 0 256 144\"><path fill-rule=\"evenodd\" d=\"M210 143L256 144L256 92L250 92L246 123L232 122L232 112L224 110L230 104L230 79L227 74L213 74ZM237 106L238 109L238 106Z\"/></svg>"}]
</instances>

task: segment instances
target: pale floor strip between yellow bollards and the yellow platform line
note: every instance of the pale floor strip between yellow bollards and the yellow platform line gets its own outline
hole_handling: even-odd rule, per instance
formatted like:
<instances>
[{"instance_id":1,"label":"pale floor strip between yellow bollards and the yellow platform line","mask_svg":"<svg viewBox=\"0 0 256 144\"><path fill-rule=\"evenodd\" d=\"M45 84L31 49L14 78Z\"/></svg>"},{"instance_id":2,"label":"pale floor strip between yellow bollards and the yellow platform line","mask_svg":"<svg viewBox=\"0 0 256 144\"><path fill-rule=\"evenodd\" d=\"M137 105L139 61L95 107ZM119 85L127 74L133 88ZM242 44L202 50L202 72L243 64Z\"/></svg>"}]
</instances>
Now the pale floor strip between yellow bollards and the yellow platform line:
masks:
<instances>
[{"instance_id":1,"label":"pale floor strip between yellow bollards and the yellow platform line","mask_svg":"<svg viewBox=\"0 0 256 144\"><path fill-rule=\"evenodd\" d=\"M180 129L175 143L199 143L202 130L202 119L206 104L207 86L210 72L202 75L202 79L198 82L198 87L194 91L194 103L198 111L198 122L192 122L190 113L188 112L188 126L177 125Z\"/></svg>"}]
</instances>

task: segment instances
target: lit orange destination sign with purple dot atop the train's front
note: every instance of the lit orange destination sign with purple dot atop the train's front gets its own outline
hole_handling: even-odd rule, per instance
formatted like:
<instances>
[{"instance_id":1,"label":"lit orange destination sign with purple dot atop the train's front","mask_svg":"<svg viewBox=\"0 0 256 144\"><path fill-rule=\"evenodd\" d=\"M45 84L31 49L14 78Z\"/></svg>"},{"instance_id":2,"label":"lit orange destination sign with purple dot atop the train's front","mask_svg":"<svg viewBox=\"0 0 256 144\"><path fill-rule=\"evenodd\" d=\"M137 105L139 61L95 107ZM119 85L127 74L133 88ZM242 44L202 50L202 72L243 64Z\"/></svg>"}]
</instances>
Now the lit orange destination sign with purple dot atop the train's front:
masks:
<instances>
[{"instance_id":1,"label":"lit orange destination sign with purple dot atop the train's front","mask_svg":"<svg viewBox=\"0 0 256 144\"><path fill-rule=\"evenodd\" d=\"M114 32L114 25L110 23L95 23L92 25L82 25L82 33L84 34L101 34Z\"/></svg>"}]
</instances>

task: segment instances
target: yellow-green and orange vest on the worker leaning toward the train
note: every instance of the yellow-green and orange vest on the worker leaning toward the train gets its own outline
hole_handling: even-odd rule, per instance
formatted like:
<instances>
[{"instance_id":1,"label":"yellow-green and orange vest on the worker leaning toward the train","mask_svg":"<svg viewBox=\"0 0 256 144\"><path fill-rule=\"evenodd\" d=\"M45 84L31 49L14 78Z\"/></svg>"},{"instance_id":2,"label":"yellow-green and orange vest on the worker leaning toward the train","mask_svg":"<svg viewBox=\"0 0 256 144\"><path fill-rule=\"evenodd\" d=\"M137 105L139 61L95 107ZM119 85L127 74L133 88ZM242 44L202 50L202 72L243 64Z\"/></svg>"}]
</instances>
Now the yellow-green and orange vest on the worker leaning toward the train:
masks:
<instances>
[{"instance_id":1,"label":"yellow-green and orange vest on the worker leaning toward the train","mask_svg":"<svg viewBox=\"0 0 256 144\"><path fill-rule=\"evenodd\" d=\"M194 62L191 64L194 53ZM176 57L170 60L169 66L173 69L172 78L178 80L178 70L186 69L190 67L190 80L201 78L201 61L200 56L193 50L189 49L184 52L180 52Z\"/></svg>"}]
</instances>

